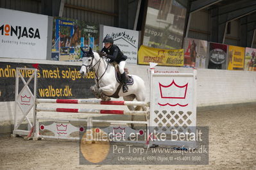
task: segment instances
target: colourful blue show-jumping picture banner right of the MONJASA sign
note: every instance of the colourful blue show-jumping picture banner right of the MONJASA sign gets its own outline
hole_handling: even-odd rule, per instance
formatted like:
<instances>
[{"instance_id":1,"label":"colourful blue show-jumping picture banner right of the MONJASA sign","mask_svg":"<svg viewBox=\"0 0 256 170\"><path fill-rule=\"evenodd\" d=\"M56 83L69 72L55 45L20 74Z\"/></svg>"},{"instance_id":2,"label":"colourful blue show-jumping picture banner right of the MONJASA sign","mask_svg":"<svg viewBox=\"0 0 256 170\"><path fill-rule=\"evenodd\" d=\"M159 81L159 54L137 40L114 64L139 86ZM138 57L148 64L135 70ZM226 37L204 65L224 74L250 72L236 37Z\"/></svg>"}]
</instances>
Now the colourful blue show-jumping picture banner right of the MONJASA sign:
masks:
<instances>
[{"instance_id":1,"label":"colourful blue show-jumping picture banner right of the MONJASA sign","mask_svg":"<svg viewBox=\"0 0 256 170\"><path fill-rule=\"evenodd\" d=\"M93 40L93 41L92 41ZM90 44L89 44L90 43ZM55 17L51 59L57 61L79 61L81 49L99 50L99 25L80 20Z\"/></svg>"}]
</instances>

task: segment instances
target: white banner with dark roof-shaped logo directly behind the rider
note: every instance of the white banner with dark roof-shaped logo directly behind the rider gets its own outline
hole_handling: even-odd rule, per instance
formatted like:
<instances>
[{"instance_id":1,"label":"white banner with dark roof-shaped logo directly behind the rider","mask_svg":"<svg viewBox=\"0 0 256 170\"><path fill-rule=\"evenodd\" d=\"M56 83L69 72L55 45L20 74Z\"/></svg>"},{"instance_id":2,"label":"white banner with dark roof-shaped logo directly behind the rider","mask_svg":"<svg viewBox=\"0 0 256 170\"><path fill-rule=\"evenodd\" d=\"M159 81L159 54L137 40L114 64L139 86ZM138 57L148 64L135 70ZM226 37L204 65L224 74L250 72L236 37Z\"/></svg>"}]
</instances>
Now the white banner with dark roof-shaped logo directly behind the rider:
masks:
<instances>
[{"instance_id":1,"label":"white banner with dark roof-shaped logo directly behind the rider","mask_svg":"<svg viewBox=\"0 0 256 170\"><path fill-rule=\"evenodd\" d=\"M127 56L126 63L137 64L139 31L103 26L102 40L107 35L112 36L114 44Z\"/></svg>"}]
</instances>

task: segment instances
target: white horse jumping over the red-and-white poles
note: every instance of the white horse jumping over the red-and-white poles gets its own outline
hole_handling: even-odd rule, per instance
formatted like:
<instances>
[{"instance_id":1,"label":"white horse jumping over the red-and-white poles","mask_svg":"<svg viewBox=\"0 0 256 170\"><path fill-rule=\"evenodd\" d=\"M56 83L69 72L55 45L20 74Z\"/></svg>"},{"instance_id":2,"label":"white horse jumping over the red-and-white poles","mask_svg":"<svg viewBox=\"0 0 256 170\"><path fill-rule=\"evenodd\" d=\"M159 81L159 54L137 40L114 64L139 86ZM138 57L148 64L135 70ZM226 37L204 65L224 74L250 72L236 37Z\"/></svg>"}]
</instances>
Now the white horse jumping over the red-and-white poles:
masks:
<instances>
[{"instance_id":1,"label":"white horse jumping over the red-and-white poles","mask_svg":"<svg viewBox=\"0 0 256 170\"><path fill-rule=\"evenodd\" d=\"M110 100L110 97L114 95L114 98L123 97L125 101L133 101L134 99L141 102L145 101L145 84L141 77L130 75L133 78L133 84L127 84L129 88L128 92L123 93L121 88L122 84L117 82L115 77L115 67L113 63L108 63L108 59L101 58L98 52L92 52L91 48L89 51L85 51L82 48L81 50L83 51L83 64L80 73L85 76L89 70L95 72L94 79L96 85L92 86L91 89L94 91L94 95L96 95L97 98ZM130 111L141 109L145 111L146 107L137 106L134 108L133 106L128 106L128 109Z\"/></svg>"}]
</instances>

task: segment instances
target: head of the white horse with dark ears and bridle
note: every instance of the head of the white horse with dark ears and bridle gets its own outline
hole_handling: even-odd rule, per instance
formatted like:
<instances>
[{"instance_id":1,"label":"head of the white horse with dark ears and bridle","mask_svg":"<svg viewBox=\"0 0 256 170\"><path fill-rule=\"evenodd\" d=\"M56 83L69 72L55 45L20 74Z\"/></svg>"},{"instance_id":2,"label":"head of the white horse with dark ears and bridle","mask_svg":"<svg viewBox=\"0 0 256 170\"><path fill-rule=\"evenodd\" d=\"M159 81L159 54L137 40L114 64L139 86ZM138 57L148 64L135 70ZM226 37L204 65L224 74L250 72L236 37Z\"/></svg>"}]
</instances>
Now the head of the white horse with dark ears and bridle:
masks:
<instances>
[{"instance_id":1,"label":"head of the white horse with dark ears and bridle","mask_svg":"<svg viewBox=\"0 0 256 170\"><path fill-rule=\"evenodd\" d=\"M82 60L82 66L80 69L80 73L82 76L85 76L86 73L89 71L89 69L92 68L92 61L94 59L94 54L93 54L91 48L89 51L85 51L81 47L81 51L83 52L83 60Z\"/></svg>"}]
</instances>

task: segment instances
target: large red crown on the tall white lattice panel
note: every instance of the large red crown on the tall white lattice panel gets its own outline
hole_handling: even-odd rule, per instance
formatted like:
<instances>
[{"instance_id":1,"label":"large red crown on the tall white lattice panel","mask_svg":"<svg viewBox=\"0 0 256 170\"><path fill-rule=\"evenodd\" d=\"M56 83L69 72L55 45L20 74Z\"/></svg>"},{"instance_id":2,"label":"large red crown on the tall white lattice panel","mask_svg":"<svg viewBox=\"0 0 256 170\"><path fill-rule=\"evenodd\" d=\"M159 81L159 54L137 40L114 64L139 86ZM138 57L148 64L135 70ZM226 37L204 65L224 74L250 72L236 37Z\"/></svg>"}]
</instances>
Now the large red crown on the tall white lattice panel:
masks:
<instances>
[{"instance_id":1,"label":"large red crown on the tall white lattice panel","mask_svg":"<svg viewBox=\"0 0 256 170\"><path fill-rule=\"evenodd\" d=\"M175 80L171 82L168 86L164 86L159 83L159 89L160 89L160 94L161 98L186 98L187 95L187 84L183 86L179 86L178 84L175 83Z\"/></svg>"}]
</instances>

